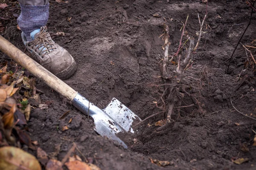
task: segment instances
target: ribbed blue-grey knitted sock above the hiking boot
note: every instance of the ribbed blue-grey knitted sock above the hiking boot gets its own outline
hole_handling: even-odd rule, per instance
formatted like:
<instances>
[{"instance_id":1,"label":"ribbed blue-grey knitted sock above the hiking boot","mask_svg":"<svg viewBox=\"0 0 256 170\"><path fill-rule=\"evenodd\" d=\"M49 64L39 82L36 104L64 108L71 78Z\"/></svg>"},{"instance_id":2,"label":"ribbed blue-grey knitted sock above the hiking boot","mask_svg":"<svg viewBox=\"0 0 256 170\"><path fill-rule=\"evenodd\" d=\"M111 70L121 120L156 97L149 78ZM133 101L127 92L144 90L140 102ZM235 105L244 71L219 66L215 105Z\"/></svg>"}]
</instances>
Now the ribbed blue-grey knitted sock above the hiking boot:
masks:
<instances>
[{"instance_id":1,"label":"ribbed blue-grey knitted sock above the hiking boot","mask_svg":"<svg viewBox=\"0 0 256 170\"><path fill-rule=\"evenodd\" d=\"M44 6L27 6L20 4L21 13L17 19L21 31L27 41L32 41L30 33L41 26L45 26L49 18L49 3Z\"/></svg>"}]
</instances>

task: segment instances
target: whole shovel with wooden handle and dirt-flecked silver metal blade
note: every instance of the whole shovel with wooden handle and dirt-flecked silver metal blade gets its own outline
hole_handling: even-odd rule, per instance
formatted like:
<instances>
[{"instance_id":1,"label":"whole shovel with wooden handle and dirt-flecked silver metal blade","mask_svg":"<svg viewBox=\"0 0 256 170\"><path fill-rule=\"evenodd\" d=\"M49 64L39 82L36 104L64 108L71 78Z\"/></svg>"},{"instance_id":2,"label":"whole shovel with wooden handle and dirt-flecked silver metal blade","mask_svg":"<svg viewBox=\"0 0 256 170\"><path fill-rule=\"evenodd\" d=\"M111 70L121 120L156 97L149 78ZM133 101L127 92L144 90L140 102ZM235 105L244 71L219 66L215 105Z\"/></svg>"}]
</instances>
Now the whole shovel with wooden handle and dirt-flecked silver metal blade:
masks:
<instances>
[{"instance_id":1,"label":"whole shovel with wooden handle and dirt-flecked silver metal blade","mask_svg":"<svg viewBox=\"0 0 256 170\"><path fill-rule=\"evenodd\" d=\"M84 114L89 114L94 120L94 130L101 136L106 136L109 139L121 144L127 148L127 145L119 139L116 134L120 132L134 133L131 125L134 120L141 119L134 114L130 109L123 105L119 100L113 98L108 106L101 110L93 103L89 102L84 96L81 96L77 91L69 85L61 81L58 77L47 71L43 66L39 65L29 56L24 54L11 42L7 41L0 35L0 51L7 54L15 62L26 68L38 79L44 81L53 90L67 97L73 106Z\"/></svg>"}]
</instances>

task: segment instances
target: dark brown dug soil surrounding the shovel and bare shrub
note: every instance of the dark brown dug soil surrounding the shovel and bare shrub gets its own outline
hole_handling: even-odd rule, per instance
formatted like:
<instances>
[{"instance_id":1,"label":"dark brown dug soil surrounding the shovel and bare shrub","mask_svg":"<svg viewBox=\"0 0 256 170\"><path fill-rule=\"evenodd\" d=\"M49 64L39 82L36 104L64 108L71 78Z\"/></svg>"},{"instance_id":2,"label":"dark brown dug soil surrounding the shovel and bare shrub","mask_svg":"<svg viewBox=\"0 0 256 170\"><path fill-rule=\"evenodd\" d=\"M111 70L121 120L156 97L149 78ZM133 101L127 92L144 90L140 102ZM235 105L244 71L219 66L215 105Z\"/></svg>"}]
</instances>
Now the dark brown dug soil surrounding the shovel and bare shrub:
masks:
<instances>
[{"instance_id":1,"label":"dark brown dug soil surrounding the shovel and bare shrub","mask_svg":"<svg viewBox=\"0 0 256 170\"><path fill-rule=\"evenodd\" d=\"M105 108L116 97L145 119L159 112L154 101L160 94L154 85L160 84L158 63L163 58L164 42L159 37L163 23L170 27L169 54L174 54L187 15L186 31L197 37L198 13L202 21L205 10L206 4L201 0L50 1L47 26L49 31L65 33L64 37L53 40L66 48L78 65L76 73L64 82L99 108ZM181 108L177 123L167 133L155 133L154 123L163 118L159 115L138 127L133 135L122 135L128 145L124 149L97 135L91 119L37 80L36 87L44 92L42 102L52 101L52 104L47 110L32 111L28 122L31 139L38 141L47 153L60 146L58 160L75 142L81 153L102 170L255 170L252 130L256 131L256 121L235 111L230 103L232 99L236 109L256 116L255 75L246 69L239 79L246 57L240 45L226 74L227 59L249 22L250 11L242 0L209 0L205 21L208 26L204 27L199 48L192 54L192 68L184 73L182 82L186 88L181 106L194 106ZM156 13L160 17L154 17ZM70 22L67 17L72 17ZM24 50L15 22L4 20L7 27L3 36ZM253 14L243 44L253 41L255 27ZM1 61L6 60L4 54L0 57ZM66 111L70 113L59 120ZM70 129L63 132L61 128L65 125ZM249 151L241 151L244 145ZM231 161L234 157L249 161L234 164ZM160 167L149 158L169 161L170 165Z\"/></svg>"}]
</instances>

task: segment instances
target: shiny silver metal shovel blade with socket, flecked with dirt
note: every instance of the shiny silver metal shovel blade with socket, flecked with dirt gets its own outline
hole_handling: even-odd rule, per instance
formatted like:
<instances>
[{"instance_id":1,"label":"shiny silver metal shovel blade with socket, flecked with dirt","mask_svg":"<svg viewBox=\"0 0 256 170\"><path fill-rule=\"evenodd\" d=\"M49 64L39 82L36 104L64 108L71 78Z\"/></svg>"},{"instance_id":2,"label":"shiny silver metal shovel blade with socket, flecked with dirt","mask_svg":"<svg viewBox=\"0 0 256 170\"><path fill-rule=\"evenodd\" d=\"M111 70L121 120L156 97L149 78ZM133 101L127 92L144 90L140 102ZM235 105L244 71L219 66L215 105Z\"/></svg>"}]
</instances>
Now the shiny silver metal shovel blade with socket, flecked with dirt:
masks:
<instances>
[{"instance_id":1,"label":"shiny silver metal shovel blade with socket, flecked with dirt","mask_svg":"<svg viewBox=\"0 0 256 170\"><path fill-rule=\"evenodd\" d=\"M101 136L107 136L109 139L116 141L123 147L127 145L119 139L116 134L119 132L134 133L131 125L134 120L140 121L139 116L134 114L130 109L123 105L119 100L113 98L108 106L101 110L93 103L90 103L85 97L77 94L72 100L72 104L82 113L88 114L94 120L94 130Z\"/></svg>"}]
</instances>

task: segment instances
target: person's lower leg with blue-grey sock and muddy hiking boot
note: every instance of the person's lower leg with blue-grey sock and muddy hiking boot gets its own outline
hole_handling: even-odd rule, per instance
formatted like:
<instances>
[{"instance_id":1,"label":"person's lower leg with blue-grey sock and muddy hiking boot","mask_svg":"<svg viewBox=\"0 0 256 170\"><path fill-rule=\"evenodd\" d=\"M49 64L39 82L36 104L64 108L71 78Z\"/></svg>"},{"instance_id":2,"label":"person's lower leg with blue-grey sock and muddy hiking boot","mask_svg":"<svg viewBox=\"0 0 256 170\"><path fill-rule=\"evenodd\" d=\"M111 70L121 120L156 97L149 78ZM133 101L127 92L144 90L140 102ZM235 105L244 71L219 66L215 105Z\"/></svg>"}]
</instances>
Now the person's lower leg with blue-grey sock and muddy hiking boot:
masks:
<instances>
[{"instance_id":1,"label":"person's lower leg with blue-grey sock and muddy hiking boot","mask_svg":"<svg viewBox=\"0 0 256 170\"><path fill-rule=\"evenodd\" d=\"M60 79L67 79L76 71L73 57L55 43L47 32L49 0L18 0L21 13L17 23L21 36L32 57Z\"/></svg>"}]
</instances>

